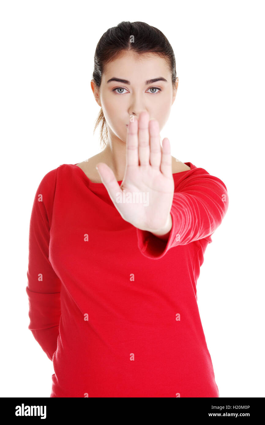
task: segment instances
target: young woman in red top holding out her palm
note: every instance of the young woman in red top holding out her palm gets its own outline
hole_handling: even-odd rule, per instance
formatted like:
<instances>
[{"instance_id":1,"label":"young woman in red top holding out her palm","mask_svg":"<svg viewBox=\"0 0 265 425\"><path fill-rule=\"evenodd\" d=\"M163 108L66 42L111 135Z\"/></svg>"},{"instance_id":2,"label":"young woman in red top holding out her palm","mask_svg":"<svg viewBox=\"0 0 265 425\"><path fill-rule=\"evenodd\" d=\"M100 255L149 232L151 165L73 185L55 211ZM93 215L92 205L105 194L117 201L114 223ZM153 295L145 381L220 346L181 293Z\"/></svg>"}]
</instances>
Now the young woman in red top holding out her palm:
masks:
<instances>
[{"instance_id":1,"label":"young woman in red top holding out her palm","mask_svg":"<svg viewBox=\"0 0 265 425\"><path fill-rule=\"evenodd\" d=\"M157 28L100 38L104 149L49 171L31 213L28 328L53 362L50 397L219 397L196 284L228 194L161 147L177 86Z\"/></svg>"}]
</instances>

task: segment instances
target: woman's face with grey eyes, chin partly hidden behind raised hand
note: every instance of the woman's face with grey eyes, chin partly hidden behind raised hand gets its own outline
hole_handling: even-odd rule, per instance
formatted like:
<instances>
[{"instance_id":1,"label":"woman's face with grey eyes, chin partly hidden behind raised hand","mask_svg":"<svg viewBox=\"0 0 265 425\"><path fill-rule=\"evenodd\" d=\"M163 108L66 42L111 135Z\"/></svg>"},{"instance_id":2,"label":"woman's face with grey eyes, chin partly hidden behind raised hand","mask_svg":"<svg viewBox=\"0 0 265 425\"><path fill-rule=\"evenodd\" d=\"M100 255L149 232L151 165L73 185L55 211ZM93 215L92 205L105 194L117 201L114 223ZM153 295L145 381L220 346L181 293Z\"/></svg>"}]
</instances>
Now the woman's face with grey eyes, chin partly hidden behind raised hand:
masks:
<instances>
[{"instance_id":1,"label":"woman's face with grey eyes, chin partly hidden behind raised hand","mask_svg":"<svg viewBox=\"0 0 265 425\"><path fill-rule=\"evenodd\" d=\"M113 78L126 81L109 81ZM166 81L147 82L157 78ZM142 111L147 111L150 119L157 119L161 131L177 94L178 79L173 91L171 78L165 59L156 54L142 57L126 52L108 63L99 91L91 82L95 99L105 116L108 133L126 142L126 124L130 119L132 121L133 116L139 119Z\"/></svg>"}]
</instances>

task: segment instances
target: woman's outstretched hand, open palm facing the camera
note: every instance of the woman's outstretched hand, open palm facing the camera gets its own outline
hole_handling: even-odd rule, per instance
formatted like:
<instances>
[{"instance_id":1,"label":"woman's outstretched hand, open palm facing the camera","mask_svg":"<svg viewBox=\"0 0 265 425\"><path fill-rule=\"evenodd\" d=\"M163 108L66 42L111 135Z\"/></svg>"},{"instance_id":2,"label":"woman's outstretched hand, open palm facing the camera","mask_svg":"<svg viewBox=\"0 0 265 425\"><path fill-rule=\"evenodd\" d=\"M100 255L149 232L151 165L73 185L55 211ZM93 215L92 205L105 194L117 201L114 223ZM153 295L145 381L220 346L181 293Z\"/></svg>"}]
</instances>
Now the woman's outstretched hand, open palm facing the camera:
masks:
<instances>
[{"instance_id":1,"label":"woman's outstretched hand, open palm facing the camera","mask_svg":"<svg viewBox=\"0 0 265 425\"><path fill-rule=\"evenodd\" d=\"M167 138L160 146L157 120L147 112L139 122L130 122L126 138L126 166L121 185L107 164L97 170L108 194L125 221L141 230L166 235L171 227L170 210L174 195L172 159Z\"/></svg>"}]
</instances>

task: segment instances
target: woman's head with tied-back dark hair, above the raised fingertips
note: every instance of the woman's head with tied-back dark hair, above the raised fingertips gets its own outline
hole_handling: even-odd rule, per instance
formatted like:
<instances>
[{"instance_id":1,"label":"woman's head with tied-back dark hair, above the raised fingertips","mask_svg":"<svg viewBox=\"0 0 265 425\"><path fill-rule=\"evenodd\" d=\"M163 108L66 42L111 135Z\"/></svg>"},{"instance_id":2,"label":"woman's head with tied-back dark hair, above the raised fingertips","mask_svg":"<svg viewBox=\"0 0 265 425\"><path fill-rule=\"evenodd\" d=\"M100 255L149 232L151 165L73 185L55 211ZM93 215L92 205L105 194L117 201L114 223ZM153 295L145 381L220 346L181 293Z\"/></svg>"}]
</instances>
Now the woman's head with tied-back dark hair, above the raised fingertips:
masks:
<instances>
[{"instance_id":1,"label":"woman's head with tied-back dark hair, above the raised fingertips","mask_svg":"<svg viewBox=\"0 0 265 425\"><path fill-rule=\"evenodd\" d=\"M115 78L116 81L109 81ZM162 78L160 81L148 81ZM123 79L126 81L117 81ZM166 80L166 81L165 81ZM144 22L121 22L109 28L97 44L91 88L98 105L100 142L108 134L125 142L132 116L147 111L159 122L168 120L178 78L173 49L165 35Z\"/></svg>"}]
</instances>

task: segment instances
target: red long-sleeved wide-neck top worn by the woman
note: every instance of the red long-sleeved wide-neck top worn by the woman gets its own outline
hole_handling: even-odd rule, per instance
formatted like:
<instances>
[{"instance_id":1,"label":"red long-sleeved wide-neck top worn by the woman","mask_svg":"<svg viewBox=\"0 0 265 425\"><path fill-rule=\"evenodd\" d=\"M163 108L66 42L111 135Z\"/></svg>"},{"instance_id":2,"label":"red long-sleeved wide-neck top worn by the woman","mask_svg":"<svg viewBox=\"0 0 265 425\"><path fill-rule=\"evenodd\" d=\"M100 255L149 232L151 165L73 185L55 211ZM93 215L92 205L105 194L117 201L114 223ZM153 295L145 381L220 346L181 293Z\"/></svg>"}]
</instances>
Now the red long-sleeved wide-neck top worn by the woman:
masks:
<instances>
[{"instance_id":1,"label":"red long-sleeved wide-neck top worn by the woman","mask_svg":"<svg viewBox=\"0 0 265 425\"><path fill-rule=\"evenodd\" d=\"M228 193L185 164L167 241L124 221L77 164L40 182L26 293L28 329L54 366L50 397L219 397L196 285Z\"/></svg>"}]
</instances>

